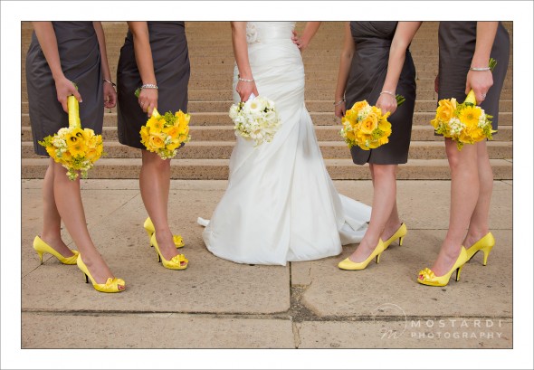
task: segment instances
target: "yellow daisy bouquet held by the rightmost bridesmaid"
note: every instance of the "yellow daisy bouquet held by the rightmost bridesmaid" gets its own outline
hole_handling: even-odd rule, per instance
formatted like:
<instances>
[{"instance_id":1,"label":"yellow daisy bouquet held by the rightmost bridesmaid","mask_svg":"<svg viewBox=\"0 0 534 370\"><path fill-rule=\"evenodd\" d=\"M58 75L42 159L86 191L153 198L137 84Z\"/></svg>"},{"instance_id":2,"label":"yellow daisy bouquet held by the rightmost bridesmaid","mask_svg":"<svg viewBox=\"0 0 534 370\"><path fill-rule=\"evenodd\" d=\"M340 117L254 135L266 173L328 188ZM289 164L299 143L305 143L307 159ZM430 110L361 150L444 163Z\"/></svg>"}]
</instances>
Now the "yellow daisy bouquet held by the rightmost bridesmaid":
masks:
<instances>
[{"instance_id":1,"label":"yellow daisy bouquet held by the rightmost bridesmaid","mask_svg":"<svg viewBox=\"0 0 534 370\"><path fill-rule=\"evenodd\" d=\"M491 71L496 64L494 59L490 60ZM493 139L492 134L497 132L491 128L493 117L476 104L473 90L469 91L462 104L454 98L440 100L435 118L430 121L435 133L452 138L458 150L462 150L464 144Z\"/></svg>"}]
</instances>

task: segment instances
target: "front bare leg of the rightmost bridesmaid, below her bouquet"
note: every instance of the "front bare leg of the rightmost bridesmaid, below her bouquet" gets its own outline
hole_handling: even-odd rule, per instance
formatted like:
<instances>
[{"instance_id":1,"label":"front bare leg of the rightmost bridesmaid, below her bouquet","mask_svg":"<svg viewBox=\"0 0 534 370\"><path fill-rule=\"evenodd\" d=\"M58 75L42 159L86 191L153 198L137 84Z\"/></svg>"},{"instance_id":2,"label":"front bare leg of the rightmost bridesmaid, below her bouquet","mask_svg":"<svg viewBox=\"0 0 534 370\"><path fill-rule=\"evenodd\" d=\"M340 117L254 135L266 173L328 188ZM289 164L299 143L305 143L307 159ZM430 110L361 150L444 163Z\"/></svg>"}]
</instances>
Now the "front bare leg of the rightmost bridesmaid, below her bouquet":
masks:
<instances>
[{"instance_id":1,"label":"front bare leg of the rightmost bridesmaid, below her bouquet","mask_svg":"<svg viewBox=\"0 0 534 370\"><path fill-rule=\"evenodd\" d=\"M436 276L443 276L451 270L458 259L479 197L477 146L466 144L459 151L453 140L445 138L445 150L451 167L451 213L449 230L432 267Z\"/></svg>"}]
</instances>

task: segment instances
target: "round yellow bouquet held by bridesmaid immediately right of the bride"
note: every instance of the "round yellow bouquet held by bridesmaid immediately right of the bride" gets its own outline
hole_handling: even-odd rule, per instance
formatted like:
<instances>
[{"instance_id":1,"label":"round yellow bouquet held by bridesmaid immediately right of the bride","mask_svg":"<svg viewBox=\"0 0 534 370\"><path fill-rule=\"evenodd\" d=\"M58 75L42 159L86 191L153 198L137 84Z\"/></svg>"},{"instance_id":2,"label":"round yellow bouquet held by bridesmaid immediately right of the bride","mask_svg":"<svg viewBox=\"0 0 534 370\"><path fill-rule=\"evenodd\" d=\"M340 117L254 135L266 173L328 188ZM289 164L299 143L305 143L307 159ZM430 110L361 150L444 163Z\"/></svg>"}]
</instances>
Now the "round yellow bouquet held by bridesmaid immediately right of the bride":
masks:
<instances>
[{"instance_id":1,"label":"round yellow bouquet held by bridesmaid immediately right of the bride","mask_svg":"<svg viewBox=\"0 0 534 370\"><path fill-rule=\"evenodd\" d=\"M339 134L345 139L348 147L375 149L389 142L388 138L391 135L391 123L387 120L389 115L389 112L382 114L382 109L370 106L367 100L357 101L341 119L343 128Z\"/></svg>"}]
</instances>

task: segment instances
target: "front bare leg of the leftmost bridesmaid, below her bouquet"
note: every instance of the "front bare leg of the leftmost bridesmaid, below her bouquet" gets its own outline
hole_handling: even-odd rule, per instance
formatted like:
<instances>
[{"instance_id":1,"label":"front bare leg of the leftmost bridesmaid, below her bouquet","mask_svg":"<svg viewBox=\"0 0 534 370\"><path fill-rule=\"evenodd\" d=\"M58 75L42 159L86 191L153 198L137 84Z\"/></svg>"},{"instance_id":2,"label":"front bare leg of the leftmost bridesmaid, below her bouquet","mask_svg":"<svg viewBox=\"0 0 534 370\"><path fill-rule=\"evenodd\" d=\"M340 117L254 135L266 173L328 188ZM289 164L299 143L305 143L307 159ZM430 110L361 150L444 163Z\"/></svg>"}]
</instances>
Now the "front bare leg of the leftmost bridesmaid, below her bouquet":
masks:
<instances>
[{"instance_id":1,"label":"front bare leg of the leftmost bridesmaid, below her bouquet","mask_svg":"<svg viewBox=\"0 0 534 370\"><path fill-rule=\"evenodd\" d=\"M57 209L92 277L97 283L103 284L108 278L114 276L94 246L87 230L81 202L80 179L71 181L66 176L67 170L62 165L54 163L53 166L53 193Z\"/></svg>"}]
</instances>

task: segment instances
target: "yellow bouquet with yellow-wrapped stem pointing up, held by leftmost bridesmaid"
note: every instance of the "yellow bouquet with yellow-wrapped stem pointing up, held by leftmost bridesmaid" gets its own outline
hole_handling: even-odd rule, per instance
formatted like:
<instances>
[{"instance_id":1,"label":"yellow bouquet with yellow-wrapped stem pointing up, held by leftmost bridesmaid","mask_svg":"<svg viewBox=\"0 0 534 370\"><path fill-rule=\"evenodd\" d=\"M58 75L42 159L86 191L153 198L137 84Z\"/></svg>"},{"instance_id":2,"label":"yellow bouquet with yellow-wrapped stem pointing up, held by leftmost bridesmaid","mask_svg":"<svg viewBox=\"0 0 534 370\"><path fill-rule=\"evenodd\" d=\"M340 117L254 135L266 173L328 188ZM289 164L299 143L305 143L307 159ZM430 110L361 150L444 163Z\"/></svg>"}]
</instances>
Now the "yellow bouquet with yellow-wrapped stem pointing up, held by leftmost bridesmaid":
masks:
<instances>
[{"instance_id":1,"label":"yellow bouquet with yellow-wrapped stem pointing up, held by leftmost bridesmaid","mask_svg":"<svg viewBox=\"0 0 534 370\"><path fill-rule=\"evenodd\" d=\"M57 134L39 141L46 152L57 163L67 168L72 181L78 177L87 178L94 163L102 156L104 146L101 135L95 135L91 128L81 128L80 106L74 96L67 98L69 127L60 128Z\"/></svg>"}]
</instances>

